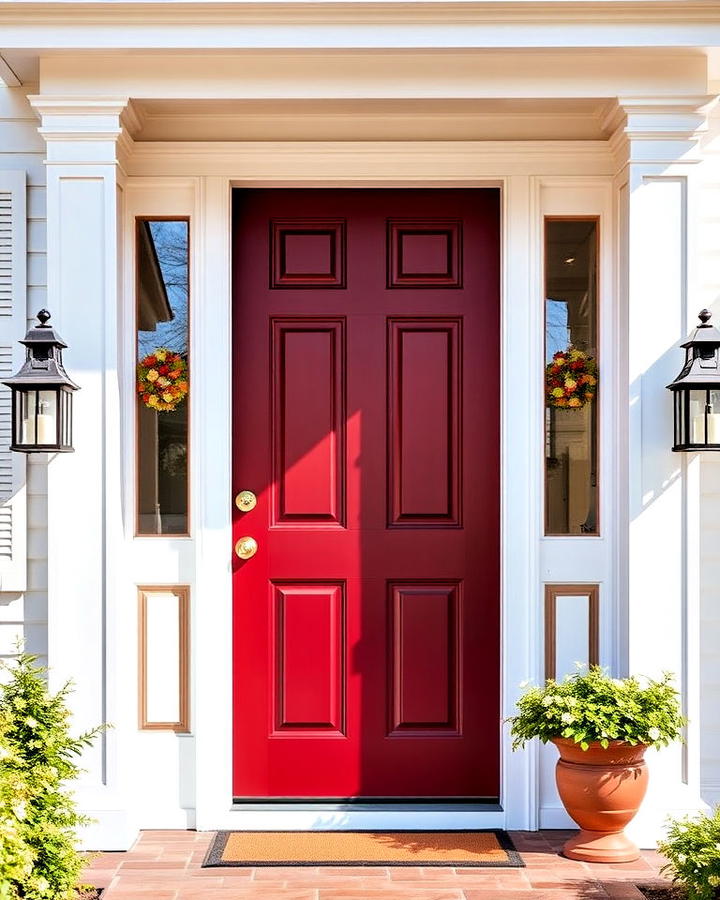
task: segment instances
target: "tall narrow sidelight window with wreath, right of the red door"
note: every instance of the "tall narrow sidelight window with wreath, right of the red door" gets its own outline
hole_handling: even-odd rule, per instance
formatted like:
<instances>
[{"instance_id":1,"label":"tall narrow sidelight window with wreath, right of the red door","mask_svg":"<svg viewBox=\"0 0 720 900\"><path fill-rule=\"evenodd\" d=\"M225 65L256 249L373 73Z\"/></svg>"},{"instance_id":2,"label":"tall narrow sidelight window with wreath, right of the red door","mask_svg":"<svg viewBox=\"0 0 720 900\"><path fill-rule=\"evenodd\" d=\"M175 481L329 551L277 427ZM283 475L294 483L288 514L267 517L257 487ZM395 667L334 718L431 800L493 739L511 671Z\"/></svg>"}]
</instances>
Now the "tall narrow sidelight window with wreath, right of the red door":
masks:
<instances>
[{"instance_id":1,"label":"tall narrow sidelight window with wreath, right of the red door","mask_svg":"<svg viewBox=\"0 0 720 900\"><path fill-rule=\"evenodd\" d=\"M597 219L545 220L545 533L599 534Z\"/></svg>"}]
</instances>

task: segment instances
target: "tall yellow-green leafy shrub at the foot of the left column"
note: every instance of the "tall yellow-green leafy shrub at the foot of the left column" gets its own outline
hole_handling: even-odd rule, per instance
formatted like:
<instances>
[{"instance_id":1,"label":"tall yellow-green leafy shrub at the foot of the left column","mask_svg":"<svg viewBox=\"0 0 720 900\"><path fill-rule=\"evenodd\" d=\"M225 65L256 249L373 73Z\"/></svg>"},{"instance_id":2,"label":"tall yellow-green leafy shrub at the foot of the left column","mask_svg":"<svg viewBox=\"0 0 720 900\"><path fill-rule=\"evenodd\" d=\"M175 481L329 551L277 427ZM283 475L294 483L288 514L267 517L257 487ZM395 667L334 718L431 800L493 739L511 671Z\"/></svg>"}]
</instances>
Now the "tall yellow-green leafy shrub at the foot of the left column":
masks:
<instances>
[{"instance_id":1,"label":"tall yellow-green leafy shrub at the foot of the left column","mask_svg":"<svg viewBox=\"0 0 720 900\"><path fill-rule=\"evenodd\" d=\"M37 657L21 653L5 666L0 692L0 898L70 900L85 860L77 849L78 814L69 783L78 757L101 731L70 734L70 685L51 694ZM2 891L5 893L2 893Z\"/></svg>"}]
</instances>

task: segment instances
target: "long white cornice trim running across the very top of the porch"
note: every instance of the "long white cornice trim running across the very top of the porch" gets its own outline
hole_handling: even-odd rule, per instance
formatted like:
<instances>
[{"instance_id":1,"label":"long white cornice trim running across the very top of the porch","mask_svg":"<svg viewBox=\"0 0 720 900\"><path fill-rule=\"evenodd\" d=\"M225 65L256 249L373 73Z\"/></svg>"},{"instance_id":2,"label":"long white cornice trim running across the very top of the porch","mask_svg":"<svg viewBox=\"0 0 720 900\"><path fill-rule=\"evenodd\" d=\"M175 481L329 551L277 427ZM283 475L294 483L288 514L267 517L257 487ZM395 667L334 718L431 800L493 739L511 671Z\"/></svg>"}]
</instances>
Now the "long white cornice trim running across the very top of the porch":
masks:
<instances>
[{"instance_id":1,"label":"long white cornice trim running across the very top of the porch","mask_svg":"<svg viewBox=\"0 0 720 900\"><path fill-rule=\"evenodd\" d=\"M3 46L104 52L148 47L705 48L720 42L714 0L552 3L35 3L5 0ZM401 28L399 26L402 26ZM37 52L37 50L36 50Z\"/></svg>"}]
</instances>

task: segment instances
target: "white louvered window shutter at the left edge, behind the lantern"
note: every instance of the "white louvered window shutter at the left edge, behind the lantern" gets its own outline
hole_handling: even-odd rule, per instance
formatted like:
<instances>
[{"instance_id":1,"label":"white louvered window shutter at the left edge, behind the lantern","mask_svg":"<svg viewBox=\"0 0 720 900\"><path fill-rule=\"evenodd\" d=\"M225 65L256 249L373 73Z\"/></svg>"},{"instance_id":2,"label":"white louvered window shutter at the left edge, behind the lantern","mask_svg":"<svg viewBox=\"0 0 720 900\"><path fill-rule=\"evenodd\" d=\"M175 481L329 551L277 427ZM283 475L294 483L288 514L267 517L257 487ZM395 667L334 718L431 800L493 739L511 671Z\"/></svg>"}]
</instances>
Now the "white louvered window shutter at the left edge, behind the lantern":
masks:
<instances>
[{"instance_id":1,"label":"white louvered window shutter at the left edge, behind the lantern","mask_svg":"<svg viewBox=\"0 0 720 900\"><path fill-rule=\"evenodd\" d=\"M25 357L25 172L0 171L0 380ZM10 452L10 389L0 386L0 591L24 591L27 572L25 455Z\"/></svg>"}]
</instances>

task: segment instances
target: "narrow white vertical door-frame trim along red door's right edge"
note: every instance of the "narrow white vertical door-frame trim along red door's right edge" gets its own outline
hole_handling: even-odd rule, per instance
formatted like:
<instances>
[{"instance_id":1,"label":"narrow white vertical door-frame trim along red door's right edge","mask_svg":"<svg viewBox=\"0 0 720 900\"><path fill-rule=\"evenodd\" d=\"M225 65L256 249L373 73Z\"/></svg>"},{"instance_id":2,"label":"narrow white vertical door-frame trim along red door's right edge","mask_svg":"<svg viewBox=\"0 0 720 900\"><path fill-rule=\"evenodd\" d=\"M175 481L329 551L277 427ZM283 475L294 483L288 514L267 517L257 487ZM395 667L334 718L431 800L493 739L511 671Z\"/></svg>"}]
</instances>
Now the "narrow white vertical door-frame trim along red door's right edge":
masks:
<instances>
[{"instance_id":1,"label":"narrow white vertical door-frame trim along red door's right edge","mask_svg":"<svg viewBox=\"0 0 720 900\"><path fill-rule=\"evenodd\" d=\"M520 685L534 680L540 648L539 513L542 482L542 399L532 378L542 359L540 303L539 185L515 176L505 182L502 290L502 378L500 463L502 525L502 710L515 712ZM517 367L526 367L527 404L515 400ZM528 414L529 413L529 414ZM524 565L520 562L523 561ZM533 742L514 754L503 729L501 804L508 827L537 828L538 748Z\"/></svg>"}]
</instances>

